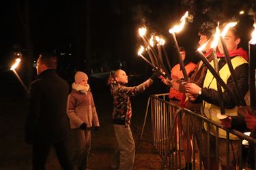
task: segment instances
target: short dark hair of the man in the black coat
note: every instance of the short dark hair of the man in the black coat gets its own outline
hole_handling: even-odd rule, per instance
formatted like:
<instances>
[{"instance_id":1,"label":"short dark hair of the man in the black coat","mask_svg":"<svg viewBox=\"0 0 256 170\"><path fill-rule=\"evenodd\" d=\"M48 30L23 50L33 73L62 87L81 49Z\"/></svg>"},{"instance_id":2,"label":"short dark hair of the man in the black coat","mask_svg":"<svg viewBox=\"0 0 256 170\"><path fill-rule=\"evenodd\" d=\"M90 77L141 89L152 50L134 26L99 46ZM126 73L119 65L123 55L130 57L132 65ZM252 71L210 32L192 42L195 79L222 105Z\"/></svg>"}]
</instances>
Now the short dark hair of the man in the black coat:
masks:
<instances>
[{"instance_id":1,"label":"short dark hair of the man in the black coat","mask_svg":"<svg viewBox=\"0 0 256 170\"><path fill-rule=\"evenodd\" d=\"M57 68L57 56L51 52L42 52L40 55L42 64L46 65L49 69Z\"/></svg>"}]
</instances>

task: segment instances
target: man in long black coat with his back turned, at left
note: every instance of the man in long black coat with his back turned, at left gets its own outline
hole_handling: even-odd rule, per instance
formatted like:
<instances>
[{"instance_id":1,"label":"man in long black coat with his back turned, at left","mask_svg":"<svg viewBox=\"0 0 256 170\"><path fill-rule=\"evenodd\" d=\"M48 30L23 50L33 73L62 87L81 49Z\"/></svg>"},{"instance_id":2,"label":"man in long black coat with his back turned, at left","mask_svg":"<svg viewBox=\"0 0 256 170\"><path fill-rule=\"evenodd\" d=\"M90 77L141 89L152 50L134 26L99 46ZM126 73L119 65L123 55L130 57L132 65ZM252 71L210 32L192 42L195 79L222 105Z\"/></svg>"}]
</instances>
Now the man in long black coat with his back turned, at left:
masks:
<instances>
[{"instance_id":1,"label":"man in long black coat with his back turned, at left","mask_svg":"<svg viewBox=\"0 0 256 170\"><path fill-rule=\"evenodd\" d=\"M57 75L57 56L40 54L36 69L38 78L31 83L25 140L33 146L33 169L44 169L46 158L55 148L63 169L72 169L68 153L70 134L66 105L68 83Z\"/></svg>"}]
</instances>

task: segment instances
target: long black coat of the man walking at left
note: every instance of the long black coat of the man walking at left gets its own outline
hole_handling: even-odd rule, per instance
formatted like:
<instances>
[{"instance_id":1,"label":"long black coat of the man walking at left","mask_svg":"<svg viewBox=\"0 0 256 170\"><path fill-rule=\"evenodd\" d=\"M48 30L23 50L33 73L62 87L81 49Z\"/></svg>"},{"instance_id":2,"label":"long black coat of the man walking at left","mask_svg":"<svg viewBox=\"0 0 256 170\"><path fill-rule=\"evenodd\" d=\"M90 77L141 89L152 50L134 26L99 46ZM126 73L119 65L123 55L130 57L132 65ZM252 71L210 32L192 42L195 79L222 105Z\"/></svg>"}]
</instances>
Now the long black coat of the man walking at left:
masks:
<instances>
[{"instance_id":1,"label":"long black coat of the man walking at left","mask_svg":"<svg viewBox=\"0 0 256 170\"><path fill-rule=\"evenodd\" d=\"M43 71L31 83L25 126L27 143L57 143L67 139L70 132L66 114L68 92L68 83L55 69Z\"/></svg>"}]
</instances>

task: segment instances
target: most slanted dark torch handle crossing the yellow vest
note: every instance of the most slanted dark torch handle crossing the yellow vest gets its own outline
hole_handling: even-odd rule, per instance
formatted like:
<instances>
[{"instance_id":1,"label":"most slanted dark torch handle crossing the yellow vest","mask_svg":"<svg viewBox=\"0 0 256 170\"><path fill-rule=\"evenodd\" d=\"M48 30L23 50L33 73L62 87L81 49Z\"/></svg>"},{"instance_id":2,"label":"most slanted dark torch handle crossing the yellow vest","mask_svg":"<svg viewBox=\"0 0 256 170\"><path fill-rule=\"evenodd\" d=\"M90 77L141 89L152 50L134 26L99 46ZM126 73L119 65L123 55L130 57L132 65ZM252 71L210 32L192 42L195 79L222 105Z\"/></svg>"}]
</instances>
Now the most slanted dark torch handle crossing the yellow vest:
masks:
<instances>
[{"instance_id":1,"label":"most slanted dark torch handle crossing the yellow vest","mask_svg":"<svg viewBox=\"0 0 256 170\"><path fill-rule=\"evenodd\" d=\"M203 55L203 53L201 51L197 50L196 54L198 54L201 61L203 61L203 63L208 68L208 70L212 73L214 78L216 78L216 81L218 82L218 84L220 84L224 88L224 90L227 92L227 94L233 100L233 102L236 103L236 105L239 106L240 103L238 102L238 98L236 97L236 95L233 94L233 92L231 92L231 90L228 88L227 84L225 84L225 82L221 79L220 75L218 75L218 73L216 73L216 71L214 70L212 65L210 65L208 59L205 58L205 56Z\"/></svg>"}]
</instances>

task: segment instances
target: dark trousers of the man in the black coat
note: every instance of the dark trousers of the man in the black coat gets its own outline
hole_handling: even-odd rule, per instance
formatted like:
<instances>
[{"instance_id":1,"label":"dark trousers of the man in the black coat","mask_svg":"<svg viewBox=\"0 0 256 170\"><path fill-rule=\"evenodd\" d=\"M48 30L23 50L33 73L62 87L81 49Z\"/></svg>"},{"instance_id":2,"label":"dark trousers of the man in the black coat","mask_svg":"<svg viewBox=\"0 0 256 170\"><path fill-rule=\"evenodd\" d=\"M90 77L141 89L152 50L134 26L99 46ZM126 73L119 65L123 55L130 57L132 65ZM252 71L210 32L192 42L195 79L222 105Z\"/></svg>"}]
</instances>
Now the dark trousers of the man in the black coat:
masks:
<instances>
[{"instance_id":1,"label":"dark trousers of the man in the black coat","mask_svg":"<svg viewBox=\"0 0 256 170\"><path fill-rule=\"evenodd\" d=\"M34 143L33 144L33 170L45 169L46 159L51 150L55 148L59 164L64 170L72 170L70 153L68 152L68 142L59 143Z\"/></svg>"}]
</instances>

